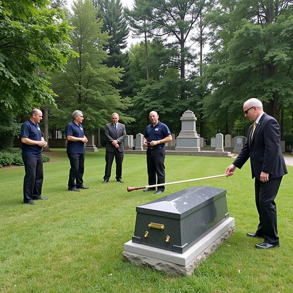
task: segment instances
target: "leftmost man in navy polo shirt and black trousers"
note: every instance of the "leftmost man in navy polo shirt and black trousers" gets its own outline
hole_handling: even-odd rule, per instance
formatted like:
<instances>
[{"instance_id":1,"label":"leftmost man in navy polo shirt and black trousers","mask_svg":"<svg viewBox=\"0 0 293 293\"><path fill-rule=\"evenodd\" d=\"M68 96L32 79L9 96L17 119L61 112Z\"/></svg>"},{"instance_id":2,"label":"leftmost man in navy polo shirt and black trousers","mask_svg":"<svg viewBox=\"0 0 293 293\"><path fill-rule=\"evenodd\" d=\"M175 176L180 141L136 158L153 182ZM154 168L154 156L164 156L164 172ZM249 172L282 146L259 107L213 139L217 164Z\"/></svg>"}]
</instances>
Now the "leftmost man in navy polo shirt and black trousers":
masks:
<instances>
[{"instance_id":1,"label":"leftmost man in navy polo shirt and black trousers","mask_svg":"<svg viewBox=\"0 0 293 293\"><path fill-rule=\"evenodd\" d=\"M33 109L30 119L21 125L21 150L25 176L23 180L23 202L35 205L33 200L46 200L42 197L43 159L42 147L47 146L40 129L42 111Z\"/></svg>"}]
</instances>

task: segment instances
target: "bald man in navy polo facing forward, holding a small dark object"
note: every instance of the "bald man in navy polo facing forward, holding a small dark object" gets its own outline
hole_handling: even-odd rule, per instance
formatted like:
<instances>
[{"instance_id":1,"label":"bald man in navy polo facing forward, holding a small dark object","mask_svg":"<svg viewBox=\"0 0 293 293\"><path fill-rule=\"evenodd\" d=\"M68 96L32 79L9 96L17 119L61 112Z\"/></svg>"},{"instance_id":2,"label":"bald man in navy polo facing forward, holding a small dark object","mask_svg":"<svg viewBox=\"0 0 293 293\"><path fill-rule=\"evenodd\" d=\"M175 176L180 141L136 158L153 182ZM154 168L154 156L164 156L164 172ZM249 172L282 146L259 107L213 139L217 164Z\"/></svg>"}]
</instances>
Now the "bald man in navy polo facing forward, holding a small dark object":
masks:
<instances>
[{"instance_id":1,"label":"bald man in navy polo facing forward, holding a small dark object","mask_svg":"<svg viewBox=\"0 0 293 293\"><path fill-rule=\"evenodd\" d=\"M171 142L172 136L168 126L159 121L159 115L156 111L149 113L151 124L147 126L144 132L142 143L147 146L147 173L149 185L165 183L165 143ZM155 190L156 188L147 188L144 191ZM165 186L159 186L155 194L164 192Z\"/></svg>"}]
</instances>

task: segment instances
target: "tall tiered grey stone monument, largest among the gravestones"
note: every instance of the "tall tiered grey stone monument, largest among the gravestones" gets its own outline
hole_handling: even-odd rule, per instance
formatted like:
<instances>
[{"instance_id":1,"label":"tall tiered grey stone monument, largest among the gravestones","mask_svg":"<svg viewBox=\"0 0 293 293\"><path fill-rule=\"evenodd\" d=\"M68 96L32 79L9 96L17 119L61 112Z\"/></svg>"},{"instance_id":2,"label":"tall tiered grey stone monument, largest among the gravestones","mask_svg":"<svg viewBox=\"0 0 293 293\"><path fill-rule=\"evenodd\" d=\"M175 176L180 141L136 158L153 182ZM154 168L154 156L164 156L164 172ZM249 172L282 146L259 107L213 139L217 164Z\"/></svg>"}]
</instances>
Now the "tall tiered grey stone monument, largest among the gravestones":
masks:
<instances>
[{"instance_id":1,"label":"tall tiered grey stone monument, largest among the gravestones","mask_svg":"<svg viewBox=\"0 0 293 293\"><path fill-rule=\"evenodd\" d=\"M176 138L175 151L200 151L200 138L196 132L196 121L194 113L187 110L180 118L181 131Z\"/></svg>"}]
</instances>

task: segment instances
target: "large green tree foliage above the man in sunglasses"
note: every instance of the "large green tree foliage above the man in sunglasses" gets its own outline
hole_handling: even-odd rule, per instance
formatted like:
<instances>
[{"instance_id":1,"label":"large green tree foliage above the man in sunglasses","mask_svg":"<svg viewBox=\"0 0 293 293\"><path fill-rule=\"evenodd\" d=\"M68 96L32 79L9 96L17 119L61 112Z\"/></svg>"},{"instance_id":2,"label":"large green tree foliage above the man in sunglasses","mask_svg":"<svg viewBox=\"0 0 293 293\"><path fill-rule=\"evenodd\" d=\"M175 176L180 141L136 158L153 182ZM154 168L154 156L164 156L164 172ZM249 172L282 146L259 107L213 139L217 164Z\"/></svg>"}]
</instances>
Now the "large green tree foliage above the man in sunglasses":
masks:
<instances>
[{"instance_id":1,"label":"large green tree foliage above the man in sunglasses","mask_svg":"<svg viewBox=\"0 0 293 293\"><path fill-rule=\"evenodd\" d=\"M205 99L205 117L235 120L243 115L243 102L255 97L278 119L278 110L293 102L292 1L261 3L223 0L210 13L214 35L206 84L212 94Z\"/></svg>"}]
</instances>

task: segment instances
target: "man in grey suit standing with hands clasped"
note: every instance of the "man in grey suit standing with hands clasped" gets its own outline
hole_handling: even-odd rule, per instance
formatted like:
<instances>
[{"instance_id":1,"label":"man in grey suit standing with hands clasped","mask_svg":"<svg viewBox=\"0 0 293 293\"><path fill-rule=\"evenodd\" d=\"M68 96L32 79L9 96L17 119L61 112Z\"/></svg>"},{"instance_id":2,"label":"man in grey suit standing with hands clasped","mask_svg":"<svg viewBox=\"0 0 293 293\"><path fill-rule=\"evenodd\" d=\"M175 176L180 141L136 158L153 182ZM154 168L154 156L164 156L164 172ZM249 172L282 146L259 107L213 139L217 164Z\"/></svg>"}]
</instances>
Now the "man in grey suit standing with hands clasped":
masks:
<instances>
[{"instance_id":1,"label":"man in grey suit standing with hands clasped","mask_svg":"<svg viewBox=\"0 0 293 293\"><path fill-rule=\"evenodd\" d=\"M122 162L124 154L124 139L126 137L125 125L118 123L119 115L113 113L111 115L112 122L106 124L105 136L107 139L106 145L106 167L103 183L107 183L111 176L112 163L115 157L116 162L116 180L123 183L122 180Z\"/></svg>"}]
</instances>

